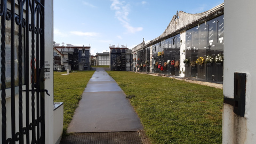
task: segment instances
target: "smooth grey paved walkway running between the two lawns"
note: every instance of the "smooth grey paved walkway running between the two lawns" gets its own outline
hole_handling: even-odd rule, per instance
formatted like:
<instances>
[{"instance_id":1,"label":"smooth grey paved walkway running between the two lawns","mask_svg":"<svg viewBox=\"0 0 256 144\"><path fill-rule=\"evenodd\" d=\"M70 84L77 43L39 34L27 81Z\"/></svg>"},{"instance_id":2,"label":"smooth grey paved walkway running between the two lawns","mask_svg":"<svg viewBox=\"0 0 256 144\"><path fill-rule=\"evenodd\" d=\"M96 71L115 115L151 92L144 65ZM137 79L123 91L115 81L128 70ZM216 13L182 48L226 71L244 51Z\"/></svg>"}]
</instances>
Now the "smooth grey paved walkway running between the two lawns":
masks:
<instances>
[{"instance_id":1,"label":"smooth grey paved walkway running between the two lawns","mask_svg":"<svg viewBox=\"0 0 256 144\"><path fill-rule=\"evenodd\" d=\"M142 130L138 115L115 80L97 68L87 84L68 133Z\"/></svg>"}]
</instances>

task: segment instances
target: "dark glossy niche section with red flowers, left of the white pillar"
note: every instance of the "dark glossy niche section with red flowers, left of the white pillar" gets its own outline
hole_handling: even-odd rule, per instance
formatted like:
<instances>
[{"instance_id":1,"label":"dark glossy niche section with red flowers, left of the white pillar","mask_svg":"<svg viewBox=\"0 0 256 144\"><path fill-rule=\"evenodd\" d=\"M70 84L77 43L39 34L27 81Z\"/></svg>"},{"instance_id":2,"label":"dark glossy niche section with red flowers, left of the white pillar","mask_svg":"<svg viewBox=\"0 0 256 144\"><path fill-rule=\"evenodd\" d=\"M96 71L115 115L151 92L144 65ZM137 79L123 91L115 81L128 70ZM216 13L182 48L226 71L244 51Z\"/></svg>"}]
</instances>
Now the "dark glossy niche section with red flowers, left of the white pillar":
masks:
<instances>
[{"instance_id":1,"label":"dark glossy niche section with red flowers, left of the white pillar","mask_svg":"<svg viewBox=\"0 0 256 144\"><path fill-rule=\"evenodd\" d=\"M152 46L154 73L180 75L180 34Z\"/></svg>"}]
</instances>

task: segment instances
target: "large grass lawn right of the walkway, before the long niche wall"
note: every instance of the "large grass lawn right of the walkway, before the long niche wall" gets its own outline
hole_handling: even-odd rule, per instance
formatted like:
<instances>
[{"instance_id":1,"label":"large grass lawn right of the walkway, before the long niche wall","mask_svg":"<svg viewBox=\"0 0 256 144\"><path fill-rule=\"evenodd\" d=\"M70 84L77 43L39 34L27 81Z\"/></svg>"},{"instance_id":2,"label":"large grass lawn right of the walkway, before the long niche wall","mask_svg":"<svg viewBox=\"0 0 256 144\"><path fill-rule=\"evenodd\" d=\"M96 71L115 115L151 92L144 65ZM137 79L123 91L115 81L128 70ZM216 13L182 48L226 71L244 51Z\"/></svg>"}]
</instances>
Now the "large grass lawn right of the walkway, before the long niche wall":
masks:
<instances>
[{"instance_id":1,"label":"large grass lawn right of the walkway, before the long niche wall","mask_svg":"<svg viewBox=\"0 0 256 144\"><path fill-rule=\"evenodd\" d=\"M130 99L152 143L221 143L222 89L107 71Z\"/></svg>"}]
</instances>

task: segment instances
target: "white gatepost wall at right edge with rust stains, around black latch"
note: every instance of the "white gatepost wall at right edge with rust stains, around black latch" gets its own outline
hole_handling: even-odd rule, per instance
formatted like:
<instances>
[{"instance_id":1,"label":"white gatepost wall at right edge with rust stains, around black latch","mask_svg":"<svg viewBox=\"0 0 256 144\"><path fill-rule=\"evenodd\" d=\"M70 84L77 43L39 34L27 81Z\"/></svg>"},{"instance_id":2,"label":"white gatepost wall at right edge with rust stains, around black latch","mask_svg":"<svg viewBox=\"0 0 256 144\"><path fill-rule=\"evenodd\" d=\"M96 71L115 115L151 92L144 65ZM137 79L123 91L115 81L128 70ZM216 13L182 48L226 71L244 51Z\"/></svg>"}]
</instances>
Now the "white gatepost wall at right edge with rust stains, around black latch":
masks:
<instances>
[{"instance_id":1,"label":"white gatepost wall at right edge with rust stains, around black latch","mask_svg":"<svg viewBox=\"0 0 256 144\"><path fill-rule=\"evenodd\" d=\"M234 98L234 73L246 73L245 115L223 104L222 143L256 143L255 0L225 0L223 94Z\"/></svg>"}]
</instances>

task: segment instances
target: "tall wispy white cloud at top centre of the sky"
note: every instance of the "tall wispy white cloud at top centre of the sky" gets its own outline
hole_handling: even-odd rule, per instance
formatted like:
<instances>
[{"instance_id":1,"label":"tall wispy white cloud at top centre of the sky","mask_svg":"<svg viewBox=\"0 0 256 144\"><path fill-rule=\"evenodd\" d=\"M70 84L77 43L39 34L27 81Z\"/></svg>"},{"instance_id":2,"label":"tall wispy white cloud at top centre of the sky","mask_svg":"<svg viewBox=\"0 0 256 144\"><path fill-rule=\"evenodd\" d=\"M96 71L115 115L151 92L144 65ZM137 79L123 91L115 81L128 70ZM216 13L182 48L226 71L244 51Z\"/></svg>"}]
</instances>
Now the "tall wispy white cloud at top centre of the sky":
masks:
<instances>
[{"instance_id":1,"label":"tall wispy white cloud at top centre of the sky","mask_svg":"<svg viewBox=\"0 0 256 144\"><path fill-rule=\"evenodd\" d=\"M115 17L121 22L123 27L126 28L128 33L136 33L137 31L141 31L142 27L132 27L129 23L129 19L127 18L130 12L130 5L124 4L125 2L121 2L119 0L111 0L113 3L111 4L111 10L115 10Z\"/></svg>"}]
</instances>

